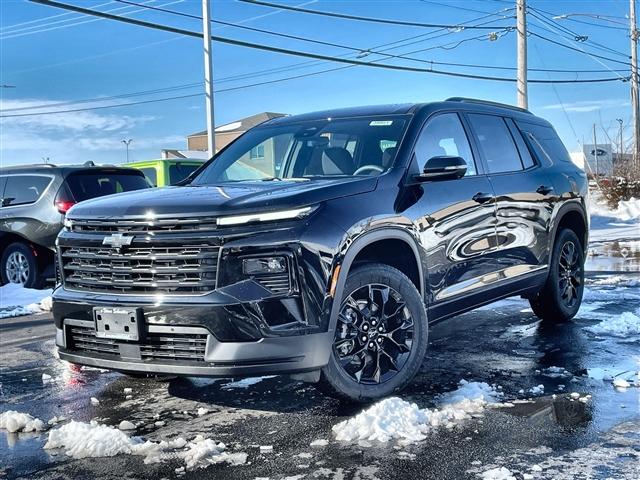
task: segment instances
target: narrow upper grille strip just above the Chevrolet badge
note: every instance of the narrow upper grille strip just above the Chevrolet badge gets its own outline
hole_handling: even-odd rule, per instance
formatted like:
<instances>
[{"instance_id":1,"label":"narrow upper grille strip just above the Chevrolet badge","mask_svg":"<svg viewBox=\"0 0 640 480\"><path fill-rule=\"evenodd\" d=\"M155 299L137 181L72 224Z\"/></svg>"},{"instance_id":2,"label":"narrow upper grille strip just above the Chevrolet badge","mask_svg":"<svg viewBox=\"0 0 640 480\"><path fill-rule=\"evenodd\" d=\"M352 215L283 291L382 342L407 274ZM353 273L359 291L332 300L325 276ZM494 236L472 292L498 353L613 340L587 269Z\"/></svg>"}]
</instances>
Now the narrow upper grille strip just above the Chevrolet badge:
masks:
<instances>
[{"instance_id":1,"label":"narrow upper grille strip just above the Chevrolet badge","mask_svg":"<svg viewBox=\"0 0 640 480\"><path fill-rule=\"evenodd\" d=\"M86 233L146 233L146 232L193 232L213 230L217 227L216 218L198 217L185 219L125 219L125 220L84 220L71 221L70 230Z\"/></svg>"}]
</instances>

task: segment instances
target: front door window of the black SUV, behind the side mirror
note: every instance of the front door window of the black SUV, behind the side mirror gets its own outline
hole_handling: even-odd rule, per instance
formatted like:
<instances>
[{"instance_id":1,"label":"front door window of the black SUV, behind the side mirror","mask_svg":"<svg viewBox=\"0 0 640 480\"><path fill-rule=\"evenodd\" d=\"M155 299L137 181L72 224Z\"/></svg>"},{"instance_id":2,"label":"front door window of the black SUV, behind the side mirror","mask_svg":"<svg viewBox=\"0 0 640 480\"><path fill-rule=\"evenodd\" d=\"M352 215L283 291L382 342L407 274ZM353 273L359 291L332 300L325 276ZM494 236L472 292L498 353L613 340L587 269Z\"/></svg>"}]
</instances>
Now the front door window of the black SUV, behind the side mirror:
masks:
<instances>
[{"instance_id":1,"label":"front door window of the black SUV, behind the side mirror","mask_svg":"<svg viewBox=\"0 0 640 480\"><path fill-rule=\"evenodd\" d=\"M427 160L442 156L462 157L467 162L466 174L477 174L467 134L455 113L445 113L429 120L418 139L416 159L421 171Z\"/></svg>"}]
</instances>

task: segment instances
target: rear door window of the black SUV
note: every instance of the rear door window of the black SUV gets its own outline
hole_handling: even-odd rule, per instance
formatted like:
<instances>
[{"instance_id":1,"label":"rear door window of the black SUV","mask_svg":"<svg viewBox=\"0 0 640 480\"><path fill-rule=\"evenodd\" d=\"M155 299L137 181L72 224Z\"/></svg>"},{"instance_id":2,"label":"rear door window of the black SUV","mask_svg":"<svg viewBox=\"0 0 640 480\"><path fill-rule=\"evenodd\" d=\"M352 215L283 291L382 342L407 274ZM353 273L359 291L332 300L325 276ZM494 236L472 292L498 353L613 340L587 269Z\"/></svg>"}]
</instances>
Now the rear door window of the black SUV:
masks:
<instances>
[{"instance_id":1,"label":"rear door window of the black SUV","mask_svg":"<svg viewBox=\"0 0 640 480\"><path fill-rule=\"evenodd\" d=\"M502 117L473 113L469 120L489 173L522 170L520 155Z\"/></svg>"}]
</instances>

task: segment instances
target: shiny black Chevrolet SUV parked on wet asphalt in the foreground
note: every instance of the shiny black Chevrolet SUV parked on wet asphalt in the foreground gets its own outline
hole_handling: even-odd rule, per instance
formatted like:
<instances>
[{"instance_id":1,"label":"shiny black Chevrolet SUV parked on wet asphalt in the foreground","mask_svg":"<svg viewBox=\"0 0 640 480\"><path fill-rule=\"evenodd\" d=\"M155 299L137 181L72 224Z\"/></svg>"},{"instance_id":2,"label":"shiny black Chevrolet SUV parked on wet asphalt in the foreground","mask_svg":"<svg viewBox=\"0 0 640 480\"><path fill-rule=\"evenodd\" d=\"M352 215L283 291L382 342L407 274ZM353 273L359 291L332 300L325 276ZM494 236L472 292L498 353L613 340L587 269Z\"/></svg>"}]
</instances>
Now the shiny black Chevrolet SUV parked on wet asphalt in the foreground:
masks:
<instances>
[{"instance_id":1,"label":"shiny black Chevrolet SUV parked on wet asphalt in the foreground","mask_svg":"<svg viewBox=\"0 0 640 480\"><path fill-rule=\"evenodd\" d=\"M182 186L70 212L60 358L388 395L418 371L433 322L512 295L547 321L575 315L586 195L552 126L514 107L273 119Z\"/></svg>"}]
</instances>

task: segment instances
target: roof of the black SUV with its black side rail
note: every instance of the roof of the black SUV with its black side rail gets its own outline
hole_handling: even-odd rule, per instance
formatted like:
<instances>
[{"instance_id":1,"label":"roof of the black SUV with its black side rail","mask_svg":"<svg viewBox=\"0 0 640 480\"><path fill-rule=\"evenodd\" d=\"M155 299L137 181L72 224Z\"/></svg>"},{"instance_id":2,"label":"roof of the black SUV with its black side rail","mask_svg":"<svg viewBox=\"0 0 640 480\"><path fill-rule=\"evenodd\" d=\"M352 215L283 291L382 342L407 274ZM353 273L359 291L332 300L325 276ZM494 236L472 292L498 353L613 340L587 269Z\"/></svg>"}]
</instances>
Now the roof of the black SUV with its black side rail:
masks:
<instances>
[{"instance_id":1,"label":"roof of the black SUV with its black side rail","mask_svg":"<svg viewBox=\"0 0 640 480\"><path fill-rule=\"evenodd\" d=\"M417 113L427 108L450 108L454 110L493 112L503 115L509 115L519 118L527 118L535 123L544 122L539 117L533 115L530 111L507 105L503 103L491 102L486 100L478 100L474 98L452 97L442 102L429 103L404 103L392 105L370 105L362 107L337 108L332 110L322 110L318 112L303 113L300 115L289 115L286 117L274 118L268 120L262 125L284 125L287 123L297 123L310 120L322 120L326 118L349 118L349 117L366 117L377 115L403 115Z\"/></svg>"}]
</instances>

